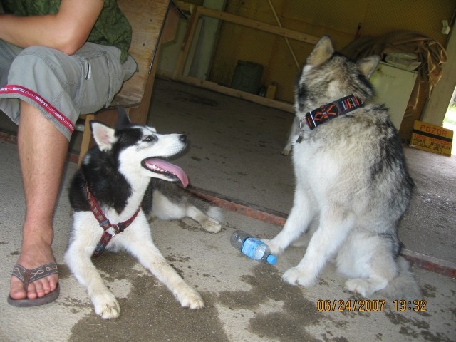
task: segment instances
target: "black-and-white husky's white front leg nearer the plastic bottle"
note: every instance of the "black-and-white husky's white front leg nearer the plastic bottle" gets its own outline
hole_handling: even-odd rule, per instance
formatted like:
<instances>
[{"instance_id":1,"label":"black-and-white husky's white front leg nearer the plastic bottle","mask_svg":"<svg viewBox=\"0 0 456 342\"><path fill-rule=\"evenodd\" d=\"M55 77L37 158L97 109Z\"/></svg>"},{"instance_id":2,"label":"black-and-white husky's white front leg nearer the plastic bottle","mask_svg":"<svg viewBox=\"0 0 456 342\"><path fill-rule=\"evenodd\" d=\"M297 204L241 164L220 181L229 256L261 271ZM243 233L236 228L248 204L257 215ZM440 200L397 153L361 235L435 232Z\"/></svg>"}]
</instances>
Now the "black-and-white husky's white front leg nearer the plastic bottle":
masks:
<instances>
[{"instance_id":1,"label":"black-and-white husky's white front leg nearer the plastic bottle","mask_svg":"<svg viewBox=\"0 0 456 342\"><path fill-rule=\"evenodd\" d=\"M150 236L150 228L145 218L142 222L142 218L135 222L135 224L140 223L140 227L132 227L133 229L129 227L122 233L125 234L123 237L125 249L135 255L142 266L149 269L162 284L165 284L175 298L180 301L181 306L189 309L203 308L204 302L201 296L167 264L165 258L155 247Z\"/></svg>"}]
</instances>

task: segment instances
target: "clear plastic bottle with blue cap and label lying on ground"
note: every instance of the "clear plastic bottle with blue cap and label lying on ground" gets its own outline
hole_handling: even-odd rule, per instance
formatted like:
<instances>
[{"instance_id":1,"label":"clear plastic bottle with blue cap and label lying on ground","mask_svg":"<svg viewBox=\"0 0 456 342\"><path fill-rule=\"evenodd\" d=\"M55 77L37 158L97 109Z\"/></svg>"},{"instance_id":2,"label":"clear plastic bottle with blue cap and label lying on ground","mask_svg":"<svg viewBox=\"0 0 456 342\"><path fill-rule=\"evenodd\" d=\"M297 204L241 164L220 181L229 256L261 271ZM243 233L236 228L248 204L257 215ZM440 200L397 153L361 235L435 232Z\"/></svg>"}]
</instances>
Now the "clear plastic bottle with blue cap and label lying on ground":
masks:
<instances>
[{"instance_id":1,"label":"clear plastic bottle with blue cap and label lying on ground","mask_svg":"<svg viewBox=\"0 0 456 342\"><path fill-rule=\"evenodd\" d=\"M242 230L237 230L232 234L231 244L250 259L267 262L271 265L277 262L276 256L271 254L271 250L267 244Z\"/></svg>"}]
</instances>

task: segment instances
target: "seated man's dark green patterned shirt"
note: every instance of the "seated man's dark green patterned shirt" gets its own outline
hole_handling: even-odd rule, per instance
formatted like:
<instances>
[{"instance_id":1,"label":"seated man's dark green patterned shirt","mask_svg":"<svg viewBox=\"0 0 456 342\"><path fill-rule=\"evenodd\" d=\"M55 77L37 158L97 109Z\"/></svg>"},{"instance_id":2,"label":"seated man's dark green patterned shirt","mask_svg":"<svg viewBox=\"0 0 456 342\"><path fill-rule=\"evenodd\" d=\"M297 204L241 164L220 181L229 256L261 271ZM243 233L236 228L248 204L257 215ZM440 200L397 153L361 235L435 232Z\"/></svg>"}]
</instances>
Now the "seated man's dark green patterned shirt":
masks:
<instances>
[{"instance_id":1,"label":"seated man's dark green patterned shirt","mask_svg":"<svg viewBox=\"0 0 456 342\"><path fill-rule=\"evenodd\" d=\"M131 43L131 26L117 6L117 0L103 0L103 10L87 41L120 48L122 63L127 59ZM56 14L61 0L0 0L5 13L16 16Z\"/></svg>"}]
</instances>

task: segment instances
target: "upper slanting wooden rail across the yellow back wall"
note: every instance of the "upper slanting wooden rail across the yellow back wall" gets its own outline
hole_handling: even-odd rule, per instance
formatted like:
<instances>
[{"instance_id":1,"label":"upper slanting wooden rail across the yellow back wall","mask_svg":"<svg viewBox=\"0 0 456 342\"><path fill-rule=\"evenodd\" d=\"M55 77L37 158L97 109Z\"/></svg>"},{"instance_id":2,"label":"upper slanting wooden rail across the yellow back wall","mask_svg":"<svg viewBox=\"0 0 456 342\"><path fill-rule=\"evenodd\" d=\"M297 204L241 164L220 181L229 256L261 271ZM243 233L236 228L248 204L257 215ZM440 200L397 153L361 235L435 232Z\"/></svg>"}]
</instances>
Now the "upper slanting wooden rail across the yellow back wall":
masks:
<instances>
[{"instance_id":1,"label":"upper slanting wooden rail across the yellow back wall","mask_svg":"<svg viewBox=\"0 0 456 342\"><path fill-rule=\"evenodd\" d=\"M229 23L247 26L250 28L256 28L257 30L273 33L286 38L294 39L295 41L304 41L304 43L316 44L320 38L311 36L310 34L293 31L288 28L274 26L266 24L262 21L257 21L243 16L237 16L235 14L217 11L215 9L207 9L206 7L198 7L198 13L201 16L210 16L211 18L217 18Z\"/></svg>"}]
</instances>

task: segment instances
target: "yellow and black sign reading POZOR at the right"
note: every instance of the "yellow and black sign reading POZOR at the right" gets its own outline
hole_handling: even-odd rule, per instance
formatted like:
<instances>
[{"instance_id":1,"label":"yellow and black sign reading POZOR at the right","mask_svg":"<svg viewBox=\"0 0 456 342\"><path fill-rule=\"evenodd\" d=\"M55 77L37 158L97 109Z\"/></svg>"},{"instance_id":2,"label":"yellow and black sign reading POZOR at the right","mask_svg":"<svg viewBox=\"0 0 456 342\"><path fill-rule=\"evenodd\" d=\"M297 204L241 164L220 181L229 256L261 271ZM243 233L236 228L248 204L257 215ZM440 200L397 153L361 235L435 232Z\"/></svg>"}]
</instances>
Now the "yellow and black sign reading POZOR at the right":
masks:
<instances>
[{"instance_id":1,"label":"yellow and black sign reading POZOR at the right","mask_svg":"<svg viewBox=\"0 0 456 342\"><path fill-rule=\"evenodd\" d=\"M411 147L451 157L453 131L440 126L415 120Z\"/></svg>"}]
</instances>

